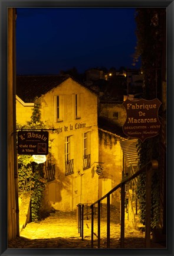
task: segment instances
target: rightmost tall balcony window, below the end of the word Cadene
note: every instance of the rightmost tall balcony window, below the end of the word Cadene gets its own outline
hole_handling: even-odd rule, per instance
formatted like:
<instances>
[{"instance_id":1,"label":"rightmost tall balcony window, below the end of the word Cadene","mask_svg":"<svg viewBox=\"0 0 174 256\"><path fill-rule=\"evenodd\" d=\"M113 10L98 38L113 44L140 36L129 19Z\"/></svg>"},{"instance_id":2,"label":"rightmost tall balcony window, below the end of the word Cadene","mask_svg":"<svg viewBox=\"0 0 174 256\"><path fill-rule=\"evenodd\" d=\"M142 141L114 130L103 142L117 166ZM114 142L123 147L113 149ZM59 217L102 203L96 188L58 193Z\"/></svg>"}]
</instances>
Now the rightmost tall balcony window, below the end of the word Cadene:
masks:
<instances>
[{"instance_id":1,"label":"rightmost tall balcony window, below the end of the word Cadene","mask_svg":"<svg viewBox=\"0 0 174 256\"><path fill-rule=\"evenodd\" d=\"M83 169L88 169L91 166L90 159L90 148L91 148L91 137L90 132L83 134Z\"/></svg>"}]
</instances>

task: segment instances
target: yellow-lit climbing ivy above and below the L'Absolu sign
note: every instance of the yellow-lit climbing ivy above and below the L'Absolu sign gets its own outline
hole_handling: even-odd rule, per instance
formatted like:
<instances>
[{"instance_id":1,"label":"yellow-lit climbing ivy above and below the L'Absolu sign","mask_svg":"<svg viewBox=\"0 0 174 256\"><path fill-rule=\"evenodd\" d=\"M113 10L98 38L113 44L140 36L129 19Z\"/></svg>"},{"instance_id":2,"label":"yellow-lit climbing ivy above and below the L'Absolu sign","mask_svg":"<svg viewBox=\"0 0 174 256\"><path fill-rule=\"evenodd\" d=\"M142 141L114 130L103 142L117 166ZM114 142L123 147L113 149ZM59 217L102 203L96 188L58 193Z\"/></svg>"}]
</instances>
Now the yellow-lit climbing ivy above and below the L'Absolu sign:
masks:
<instances>
[{"instance_id":1,"label":"yellow-lit climbing ivy above and below the L'Absolu sign","mask_svg":"<svg viewBox=\"0 0 174 256\"><path fill-rule=\"evenodd\" d=\"M31 121L25 126L17 124L17 129L44 129L40 108L41 102L36 98ZM31 220L40 220L40 207L45 188L43 164L36 164L31 155L18 156L18 188L22 193L31 191Z\"/></svg>"}]
</instances>

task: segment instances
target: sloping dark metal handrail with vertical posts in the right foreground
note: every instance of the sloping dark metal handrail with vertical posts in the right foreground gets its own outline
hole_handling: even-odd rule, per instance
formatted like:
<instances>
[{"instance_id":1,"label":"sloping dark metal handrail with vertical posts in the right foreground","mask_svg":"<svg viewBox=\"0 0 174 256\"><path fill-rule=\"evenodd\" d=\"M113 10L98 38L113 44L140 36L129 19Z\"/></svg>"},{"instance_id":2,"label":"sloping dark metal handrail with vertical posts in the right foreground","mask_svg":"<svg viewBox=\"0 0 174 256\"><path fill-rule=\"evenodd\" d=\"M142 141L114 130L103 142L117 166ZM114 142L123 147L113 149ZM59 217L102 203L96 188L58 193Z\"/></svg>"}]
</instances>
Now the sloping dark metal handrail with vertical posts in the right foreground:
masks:
<instances>
[{"instance_id":1,"label":"sloping dark metal handrail with vertical posts in the right foreground","mask_svg":"<svg viewBox=\"0 0 174 256\"><path fill-rule=\"evenodd\" d=\"M125 199L125 184L136 178L138 175L146 172L146 220L145 220L145 245L146 248L150 248L150 213L151 213L151 181L152 170L158 168L158 162L152 160L148 162L144 167L139 169L132 177L126 178L122 183L116 185L107 194L101 197L99 200L91 204L91 248L94 245L94 206L98 204L98 248L100 248L100 203L103 199L107 198L107 248L110 248L110 195L121 188L121 237L120 247L124 248L124 199Z\"/></svg>"}]
</instances>

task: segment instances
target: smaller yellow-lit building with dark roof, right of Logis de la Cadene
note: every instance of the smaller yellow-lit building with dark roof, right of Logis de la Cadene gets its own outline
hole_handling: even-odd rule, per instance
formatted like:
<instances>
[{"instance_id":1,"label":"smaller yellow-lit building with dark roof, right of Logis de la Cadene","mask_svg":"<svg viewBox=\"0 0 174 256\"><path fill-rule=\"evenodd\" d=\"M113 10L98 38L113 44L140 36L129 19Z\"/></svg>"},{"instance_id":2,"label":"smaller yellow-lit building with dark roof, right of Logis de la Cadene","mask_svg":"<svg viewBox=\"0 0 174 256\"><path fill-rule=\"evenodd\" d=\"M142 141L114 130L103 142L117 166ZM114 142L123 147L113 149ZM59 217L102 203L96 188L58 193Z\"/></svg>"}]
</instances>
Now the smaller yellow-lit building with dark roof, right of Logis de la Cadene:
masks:
<instances>
[{"instance_id":1,"label":"smaller yellow-lit building with dark roof, right of Logis de la Cadene","mask_svg":"<svg viewBox=\"0 0 174 256\"><path fill-rule=\"evenodd\" d=\"M106 117L98 117L99 126L99 162L103 164L103 174L99 177L99 198L122 182L123 151L120 142L127 140L122 127ZM106 199L103 200L106 203ZM110 198L111 204L120 203L120 190L115 191Z\"/></svg>"}]
</instances>

